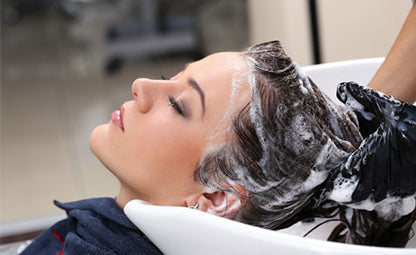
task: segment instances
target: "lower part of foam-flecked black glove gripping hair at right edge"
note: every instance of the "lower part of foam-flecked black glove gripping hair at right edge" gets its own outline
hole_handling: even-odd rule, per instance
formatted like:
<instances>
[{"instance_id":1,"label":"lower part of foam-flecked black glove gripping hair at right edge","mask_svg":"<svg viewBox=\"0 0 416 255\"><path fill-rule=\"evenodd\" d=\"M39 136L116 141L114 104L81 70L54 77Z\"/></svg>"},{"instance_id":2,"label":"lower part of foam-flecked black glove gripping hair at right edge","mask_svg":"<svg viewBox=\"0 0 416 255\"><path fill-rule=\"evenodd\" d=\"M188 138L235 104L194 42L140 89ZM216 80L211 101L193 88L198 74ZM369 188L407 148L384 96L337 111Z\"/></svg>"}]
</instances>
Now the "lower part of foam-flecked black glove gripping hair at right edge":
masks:
<instances>
[{"instance_id":1,"label":"lower part of foam-flecked black glove gripping hair at right edge","mask_svg":"<svg viewBox=\"0 0 416 255\"><path fill-rule=\"evenodd\" d=\"M335 169L344 182L358 179L351 202L370 196L378 202L389 194L401 197L415 194L415 138L415 128L403 132L391 125L381 125L364 139Z\"/></svg>"}]
</instances>

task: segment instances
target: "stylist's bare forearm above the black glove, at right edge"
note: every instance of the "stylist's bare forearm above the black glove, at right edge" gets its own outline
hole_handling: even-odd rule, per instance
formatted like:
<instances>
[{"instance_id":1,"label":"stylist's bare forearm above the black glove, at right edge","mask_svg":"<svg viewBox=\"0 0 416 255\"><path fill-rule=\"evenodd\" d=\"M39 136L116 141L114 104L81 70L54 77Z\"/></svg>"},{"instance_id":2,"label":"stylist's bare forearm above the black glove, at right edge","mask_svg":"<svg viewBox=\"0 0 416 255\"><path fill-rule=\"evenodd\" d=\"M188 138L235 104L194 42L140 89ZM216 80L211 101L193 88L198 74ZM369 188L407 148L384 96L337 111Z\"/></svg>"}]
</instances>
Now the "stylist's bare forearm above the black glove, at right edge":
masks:
<instances>
[{"instance_id":1,"label":"stylist's bare forearm above the black glove, at right edge","mask_svg":"<svg viewBox=\"0 0 416 255\"><path fill-rule=\"evenodd\" d=\"M416 4L369 87L402 101L416 101Z\"/></svg>"}]
</instances>

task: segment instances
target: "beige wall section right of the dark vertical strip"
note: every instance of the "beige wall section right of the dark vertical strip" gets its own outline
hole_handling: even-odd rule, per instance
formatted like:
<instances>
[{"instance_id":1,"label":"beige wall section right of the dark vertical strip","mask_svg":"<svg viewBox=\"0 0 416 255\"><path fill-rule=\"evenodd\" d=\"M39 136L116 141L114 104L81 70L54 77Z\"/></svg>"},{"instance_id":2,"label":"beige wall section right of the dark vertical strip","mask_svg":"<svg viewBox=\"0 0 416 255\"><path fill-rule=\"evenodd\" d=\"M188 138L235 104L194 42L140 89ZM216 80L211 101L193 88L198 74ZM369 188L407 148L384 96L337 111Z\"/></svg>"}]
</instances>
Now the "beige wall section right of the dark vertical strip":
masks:
<instances>
[{"instance_id":1,"label":"beige wall section right of the dark vertical strip","mask_svg":"<svg viewBox=\"0 0 416 255\"><path fill-rule=\"evenodd\" d=\"M318 0L324 62L385 56L409 0Z\"/></svg>"}]
</instances>

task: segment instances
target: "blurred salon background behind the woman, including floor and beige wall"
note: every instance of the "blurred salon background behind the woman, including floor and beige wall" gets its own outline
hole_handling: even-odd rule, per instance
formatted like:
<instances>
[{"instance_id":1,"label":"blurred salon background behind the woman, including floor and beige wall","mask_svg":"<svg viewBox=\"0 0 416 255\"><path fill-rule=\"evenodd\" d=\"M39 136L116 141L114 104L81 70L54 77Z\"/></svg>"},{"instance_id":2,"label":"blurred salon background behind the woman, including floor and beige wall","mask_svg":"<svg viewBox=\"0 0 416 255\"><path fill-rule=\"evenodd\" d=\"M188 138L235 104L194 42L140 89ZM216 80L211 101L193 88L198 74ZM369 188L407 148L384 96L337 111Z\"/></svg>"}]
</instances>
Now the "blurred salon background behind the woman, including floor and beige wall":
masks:
<instances>
[{"instance_id":1,"label":"blurred salon background behind the woman, including floor and beige wall","mask_svg":"<svg viewBox=\"0 0 416 255\"><path fill-rule=\"evenodd\" d=\"M279 39L301 66L385 56L410 0L1 0L0 239L116 196L89 135L137 77ZM21 235L25 234L25 235Z\"/></svg>"}]
</instances>

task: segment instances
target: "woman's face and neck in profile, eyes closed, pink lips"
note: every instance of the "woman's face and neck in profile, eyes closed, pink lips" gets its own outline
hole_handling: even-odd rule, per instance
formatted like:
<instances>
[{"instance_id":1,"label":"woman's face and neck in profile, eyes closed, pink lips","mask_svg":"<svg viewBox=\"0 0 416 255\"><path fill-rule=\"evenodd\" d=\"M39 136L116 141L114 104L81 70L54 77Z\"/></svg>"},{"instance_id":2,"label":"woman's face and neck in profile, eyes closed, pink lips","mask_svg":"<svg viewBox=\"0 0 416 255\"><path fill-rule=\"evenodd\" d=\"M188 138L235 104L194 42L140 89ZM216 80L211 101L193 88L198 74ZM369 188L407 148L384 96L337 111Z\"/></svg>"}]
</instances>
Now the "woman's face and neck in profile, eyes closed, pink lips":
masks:
<instances>
[{"instance_id":1,"label":"woman's face and neck in profile, eyes closed, pink lips","mask_svg":"<svg viewBox=\"0 0 416 255\"><path fill-rule=\"evenodd\" d=\"M194 170L207 148L225 141L229 114L248 102L247 73L241 55L224 52L187 65L170 80L135 80L134 100L90 139L92 151L120 180L117 200L183 206L186 197L203 192ZM230 103L235 80L241 86Z\"/></svg>"}]
</instances>

